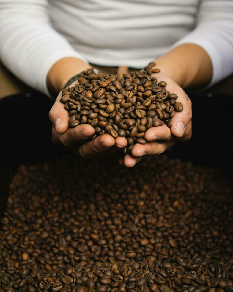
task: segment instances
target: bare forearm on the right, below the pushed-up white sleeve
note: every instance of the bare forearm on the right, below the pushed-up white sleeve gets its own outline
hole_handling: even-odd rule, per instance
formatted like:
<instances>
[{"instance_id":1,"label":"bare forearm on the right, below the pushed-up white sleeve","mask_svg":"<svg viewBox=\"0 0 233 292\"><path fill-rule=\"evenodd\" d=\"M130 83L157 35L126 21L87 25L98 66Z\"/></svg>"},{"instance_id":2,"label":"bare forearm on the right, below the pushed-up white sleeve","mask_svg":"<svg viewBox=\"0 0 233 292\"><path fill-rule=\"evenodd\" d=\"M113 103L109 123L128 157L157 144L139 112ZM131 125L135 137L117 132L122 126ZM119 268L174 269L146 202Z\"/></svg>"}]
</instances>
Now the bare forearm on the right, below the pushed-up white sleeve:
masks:
<instances>
[{"instance_id":1,"label":"bare forearm on the right, below the pushed-up white sleeve","mask_svg":"<svg viewBox=\"0 0 233 292\"><path fill-rule=\"evenodd\" d=\"M156 67L182 88L201 88L210 83L212 63L200 46L182 44L155 60Z\"/></svg>"}]
</instances>

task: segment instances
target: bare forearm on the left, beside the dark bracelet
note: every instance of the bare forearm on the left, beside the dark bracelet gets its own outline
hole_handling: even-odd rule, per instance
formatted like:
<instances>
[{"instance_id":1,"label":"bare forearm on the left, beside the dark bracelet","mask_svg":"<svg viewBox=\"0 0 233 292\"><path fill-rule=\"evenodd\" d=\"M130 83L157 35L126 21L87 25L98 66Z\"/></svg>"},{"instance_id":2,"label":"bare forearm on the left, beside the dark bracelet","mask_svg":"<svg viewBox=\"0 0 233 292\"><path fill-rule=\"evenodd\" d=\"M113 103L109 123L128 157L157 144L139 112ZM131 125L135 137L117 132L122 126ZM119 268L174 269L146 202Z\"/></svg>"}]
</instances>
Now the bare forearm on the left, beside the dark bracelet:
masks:
<instances>
[{"instance_id":1,"label":"bare forearm on the left, beside the dark bracelet","mask_svg":"<svg viewBox=\"0 0 233 292\"><path fill-rule=\"evenodd\" d=\"M91 65L78 58L67 57L57 61L49 70L46 79L50 94L56 96L71 77L88 68L91 68Z\"/></svg>"}]
</instances>

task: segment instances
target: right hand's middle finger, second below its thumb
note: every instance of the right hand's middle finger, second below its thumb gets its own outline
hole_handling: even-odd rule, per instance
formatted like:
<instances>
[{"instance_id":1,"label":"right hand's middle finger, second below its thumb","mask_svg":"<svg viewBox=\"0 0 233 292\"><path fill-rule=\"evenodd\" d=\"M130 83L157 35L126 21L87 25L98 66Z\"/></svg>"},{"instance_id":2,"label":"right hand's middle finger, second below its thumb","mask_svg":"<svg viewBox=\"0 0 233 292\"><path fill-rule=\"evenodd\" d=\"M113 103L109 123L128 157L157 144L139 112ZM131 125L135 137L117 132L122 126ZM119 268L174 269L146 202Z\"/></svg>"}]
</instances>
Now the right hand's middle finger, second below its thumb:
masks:
<instances>
[{"instance_id":1,"label":"right hand's middle finger, second below its thumb","mask_svg":"<svg viewBox=\"0 0 233 292\"><path fill-rule=\"evenodd\" d=\"M175 142L148 142L144 145L142 144L135 144L131 150L131 153L134 157L141 157L141 156L153 156L159 155L166 151L168 148L172 147Z\"/></svg>"}]
</instances>

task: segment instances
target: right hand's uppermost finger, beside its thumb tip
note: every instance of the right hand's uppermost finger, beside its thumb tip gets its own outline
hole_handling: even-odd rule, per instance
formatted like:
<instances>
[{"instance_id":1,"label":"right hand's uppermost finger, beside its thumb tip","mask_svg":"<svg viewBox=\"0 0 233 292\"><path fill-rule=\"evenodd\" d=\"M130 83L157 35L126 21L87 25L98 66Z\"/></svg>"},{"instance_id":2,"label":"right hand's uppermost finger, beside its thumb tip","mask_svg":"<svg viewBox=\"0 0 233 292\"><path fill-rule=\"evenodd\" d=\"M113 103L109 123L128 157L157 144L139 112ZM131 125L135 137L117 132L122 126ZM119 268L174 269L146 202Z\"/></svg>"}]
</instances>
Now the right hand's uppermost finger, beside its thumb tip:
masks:
<instances>
[{"instance_id":1,"label":"right hand's uppermost finger, beside its thumb tip","mask_svg":"<svg viewBox=\"0 0 233 292\"><path fill-rule=\"evenodd\" d=\"M147 141L170 140L172 139L171 130L167 125L152 127L146 131L145 139Z\"/></svg>"}]
</instances>

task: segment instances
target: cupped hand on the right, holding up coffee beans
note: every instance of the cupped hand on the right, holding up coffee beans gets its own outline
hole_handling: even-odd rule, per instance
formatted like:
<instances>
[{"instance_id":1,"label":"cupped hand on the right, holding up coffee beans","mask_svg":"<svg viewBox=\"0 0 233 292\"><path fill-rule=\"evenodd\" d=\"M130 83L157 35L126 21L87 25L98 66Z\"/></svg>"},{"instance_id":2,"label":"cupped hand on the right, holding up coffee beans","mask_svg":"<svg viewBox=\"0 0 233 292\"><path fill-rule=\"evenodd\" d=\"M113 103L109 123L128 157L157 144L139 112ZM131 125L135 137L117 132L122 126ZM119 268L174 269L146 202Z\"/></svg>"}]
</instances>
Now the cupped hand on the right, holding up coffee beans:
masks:
<instances>
[{"instance_id":1,"label":"cupped hand on the right, holding up coffee beans","mask_svg":"<svg viewBox=\"0 0 233 292\"><path fill-rule=\"evenodd\" d=\"M182 112L176 112L172 120L172 127L167 125L152 127L145 133L145 139L148 143L141 145L136 144L131 150L132 155L125 155L120 159L120 164L126 167L133 167L145 155L157 156L171 147L177 142L188 141L192 136L192 104L188 95L183 89L175 83L171 78L162 73L156 73L154 76L158 79L166 81L166 89L171 93L178 95L177 101L182 102L184 109Z\"/></svg>"}]
</instances>

